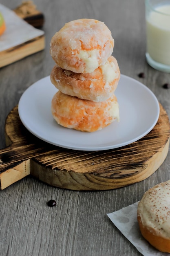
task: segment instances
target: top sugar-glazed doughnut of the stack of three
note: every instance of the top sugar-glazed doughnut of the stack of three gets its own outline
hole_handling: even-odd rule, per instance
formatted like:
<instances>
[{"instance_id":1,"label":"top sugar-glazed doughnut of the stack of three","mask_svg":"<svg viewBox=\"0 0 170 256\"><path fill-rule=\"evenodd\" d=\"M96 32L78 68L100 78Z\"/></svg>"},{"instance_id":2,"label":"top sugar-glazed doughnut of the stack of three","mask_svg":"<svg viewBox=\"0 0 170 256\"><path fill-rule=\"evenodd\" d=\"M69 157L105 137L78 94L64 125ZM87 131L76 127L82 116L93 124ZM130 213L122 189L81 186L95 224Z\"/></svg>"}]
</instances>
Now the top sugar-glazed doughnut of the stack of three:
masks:
<instances>
[{"instance_id":1,"label":"top sugar-glazed doughnut of the stack of three","mask_svg":"<svg viewBox=\"0 0 170 256\"><path fill-rule=\"evenodd\" d=\"M91 73L112 54L114 40L104 22L68 22L51 39L50 53L57 65L75 73Z\"/></svg>"}]
</instances>

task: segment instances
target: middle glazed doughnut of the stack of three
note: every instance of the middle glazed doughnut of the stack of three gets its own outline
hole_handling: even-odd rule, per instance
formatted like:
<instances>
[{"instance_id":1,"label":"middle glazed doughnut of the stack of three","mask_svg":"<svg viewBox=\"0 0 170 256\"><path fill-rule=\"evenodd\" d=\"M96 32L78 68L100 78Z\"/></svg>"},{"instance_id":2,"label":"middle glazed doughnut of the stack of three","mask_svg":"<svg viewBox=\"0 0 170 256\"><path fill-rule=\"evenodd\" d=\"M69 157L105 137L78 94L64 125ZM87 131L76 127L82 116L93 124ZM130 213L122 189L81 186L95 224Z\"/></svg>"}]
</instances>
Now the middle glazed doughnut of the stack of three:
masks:
<instances>
[{"instance_id":1,"label":"middle glazed doughnut of the stack of three","mask_svg":"<svg viewBox=\"0 0 170 256\"><path fill-rule=\"evenodd\" d=\"M116 59L110 56L92 73L74 73L55 65L50 77L55 87L64 94L99 102L109 99L115 92L120 70Z\"/></svg>"}]
</instances>

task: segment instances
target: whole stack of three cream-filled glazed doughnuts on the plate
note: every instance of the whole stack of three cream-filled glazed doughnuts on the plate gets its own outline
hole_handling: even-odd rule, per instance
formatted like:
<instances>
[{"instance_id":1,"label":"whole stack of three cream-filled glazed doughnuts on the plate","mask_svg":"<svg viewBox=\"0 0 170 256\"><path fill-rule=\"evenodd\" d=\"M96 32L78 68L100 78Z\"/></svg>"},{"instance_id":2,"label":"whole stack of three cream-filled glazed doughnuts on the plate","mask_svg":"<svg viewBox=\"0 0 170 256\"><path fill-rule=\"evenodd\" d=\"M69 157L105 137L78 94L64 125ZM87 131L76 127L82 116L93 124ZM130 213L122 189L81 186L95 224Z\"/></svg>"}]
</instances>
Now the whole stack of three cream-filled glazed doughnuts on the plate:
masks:
<instances>
[{"instance_id":1,"label":"whole stack of three cream-filled glazed doughnuts on the plate","mask_svg":"<svg viewBox=\"0 0 170 256\"><path fill-rule=\"evenodd\" d=\"M84 132L101 130L117 119L114 94L120 70L111 56L114 40L104 22L68 22L51 39L55 61L51 82L58 89L51 112L58 124Z\"/></svg>"}]
</instances>

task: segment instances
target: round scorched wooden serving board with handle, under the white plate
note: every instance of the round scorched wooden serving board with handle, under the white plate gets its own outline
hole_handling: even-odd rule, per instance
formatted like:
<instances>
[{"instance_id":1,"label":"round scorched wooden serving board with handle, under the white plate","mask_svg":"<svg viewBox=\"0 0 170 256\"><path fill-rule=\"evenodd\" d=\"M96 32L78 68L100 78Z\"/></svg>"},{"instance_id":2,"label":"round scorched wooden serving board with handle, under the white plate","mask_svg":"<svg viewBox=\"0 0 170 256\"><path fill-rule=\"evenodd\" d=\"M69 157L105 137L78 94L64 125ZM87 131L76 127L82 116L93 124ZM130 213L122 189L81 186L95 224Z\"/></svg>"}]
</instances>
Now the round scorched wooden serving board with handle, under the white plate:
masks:
<instances>
[{"instance_id":1,"label":"round scorched wooden serving board with handle, under the white plate","mask_svg":"<svg viewBox=\"0 0 170 256\"><path fill-rule=\"evenodd\" d=\"M20 121L18 106L6 124L7 148L0 150L0 188L26 175L51 186L73 190L108 190L146 179L168 154L170 124L160 104L156 126L142 139L104 151L69 150L32 135Z\"/></svg>"}]
</instances>

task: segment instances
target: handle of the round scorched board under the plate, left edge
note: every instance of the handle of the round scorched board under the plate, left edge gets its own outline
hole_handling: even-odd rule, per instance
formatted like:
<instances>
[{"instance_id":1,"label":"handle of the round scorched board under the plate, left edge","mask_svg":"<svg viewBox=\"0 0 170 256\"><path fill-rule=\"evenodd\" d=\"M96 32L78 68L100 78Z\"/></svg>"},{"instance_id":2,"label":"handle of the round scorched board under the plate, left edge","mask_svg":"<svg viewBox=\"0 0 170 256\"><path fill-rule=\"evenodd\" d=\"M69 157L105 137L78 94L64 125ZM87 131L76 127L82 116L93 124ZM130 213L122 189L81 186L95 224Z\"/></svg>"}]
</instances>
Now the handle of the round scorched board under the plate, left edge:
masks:
<instances>
[{"instance_id":1,"label":"handle of the round scorched board under the plate, left edge","mask_svg":"<svg viewBox=\"0 0 170 256\"><path fill-rule=\"evenodd\" d=\"M30 159L24 159L20 151L15 144L0 149L0 190L30 174Z\"/></svg>"}]
</instances>

